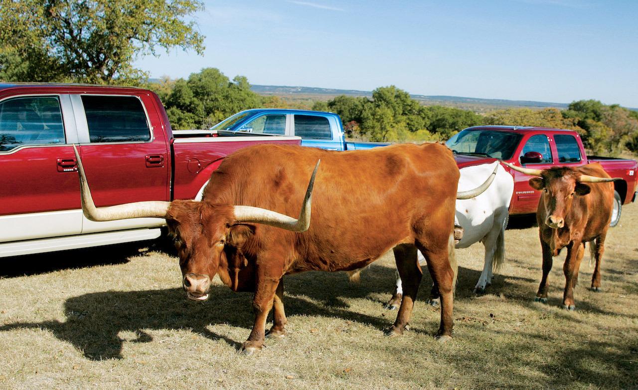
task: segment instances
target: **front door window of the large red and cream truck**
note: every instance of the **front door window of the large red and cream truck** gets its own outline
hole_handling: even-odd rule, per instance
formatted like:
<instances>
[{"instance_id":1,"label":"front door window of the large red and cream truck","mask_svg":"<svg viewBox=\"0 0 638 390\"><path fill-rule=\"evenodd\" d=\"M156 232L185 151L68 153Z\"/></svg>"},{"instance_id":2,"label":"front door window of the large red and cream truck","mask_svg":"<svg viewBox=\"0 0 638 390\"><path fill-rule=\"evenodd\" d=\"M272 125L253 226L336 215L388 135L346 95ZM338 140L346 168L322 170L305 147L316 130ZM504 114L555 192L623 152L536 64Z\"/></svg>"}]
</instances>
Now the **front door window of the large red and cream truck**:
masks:
<instances>
[{"instance_id":1,"label":"front door window of the large red and cream truck","mask_svg":"<svg viewBox=\"0 0 638 390\"><path fill-rule=\"evenodd\" d=\"M21 145L64 144L56 96L15 98L0 103L0 152Z\"/></svg>"}]
</instances>

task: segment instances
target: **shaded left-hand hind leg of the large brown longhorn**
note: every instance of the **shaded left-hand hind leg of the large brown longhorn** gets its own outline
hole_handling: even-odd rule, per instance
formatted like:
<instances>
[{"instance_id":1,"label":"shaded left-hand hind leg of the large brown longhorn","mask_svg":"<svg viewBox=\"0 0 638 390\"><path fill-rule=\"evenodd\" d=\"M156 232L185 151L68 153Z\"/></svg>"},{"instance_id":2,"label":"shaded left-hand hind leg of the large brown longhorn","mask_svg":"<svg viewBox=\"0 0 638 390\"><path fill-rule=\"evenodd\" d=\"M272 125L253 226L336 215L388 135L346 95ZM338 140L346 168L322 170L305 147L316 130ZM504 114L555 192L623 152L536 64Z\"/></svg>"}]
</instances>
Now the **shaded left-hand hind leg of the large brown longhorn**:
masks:
<instances>
[{"instance_id":1,"label":"shaded left-hand hind leg of the large brown longhorn","mask_svg":"<svg viewBox=\"0 0 638 390\"><path fill-rule=\"evenodd\" d=\"M387 336L403 334L408 326L414 301L417 299L422 272L417 262L417 248L412 244L401 244L394 248L394 259L403 285L403 299L394 325L385 333Z\"/></svg>"}]
</instances>

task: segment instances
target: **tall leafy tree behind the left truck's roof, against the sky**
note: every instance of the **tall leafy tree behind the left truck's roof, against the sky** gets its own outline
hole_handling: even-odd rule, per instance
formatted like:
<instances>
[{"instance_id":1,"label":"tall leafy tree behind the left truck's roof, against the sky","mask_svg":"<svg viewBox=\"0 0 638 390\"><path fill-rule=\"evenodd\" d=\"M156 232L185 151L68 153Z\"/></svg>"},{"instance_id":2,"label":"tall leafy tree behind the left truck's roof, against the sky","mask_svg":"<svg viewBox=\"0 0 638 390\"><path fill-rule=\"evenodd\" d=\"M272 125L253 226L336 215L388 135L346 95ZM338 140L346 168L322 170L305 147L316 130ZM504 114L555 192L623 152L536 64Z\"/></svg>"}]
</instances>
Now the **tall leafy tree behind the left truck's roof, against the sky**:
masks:
<instances>
[{"instance_id":1,"label":"tall leafy tree behind the left truck's roof, against the sky","mask_svg":"<svg viewBox=\"0 0 638 390\"><path fill-rule=\"evenodd\" d=\"M158 49L204 52L198 0L0 0L0 79L135 83Z\"/></svg>"}]
</instances>

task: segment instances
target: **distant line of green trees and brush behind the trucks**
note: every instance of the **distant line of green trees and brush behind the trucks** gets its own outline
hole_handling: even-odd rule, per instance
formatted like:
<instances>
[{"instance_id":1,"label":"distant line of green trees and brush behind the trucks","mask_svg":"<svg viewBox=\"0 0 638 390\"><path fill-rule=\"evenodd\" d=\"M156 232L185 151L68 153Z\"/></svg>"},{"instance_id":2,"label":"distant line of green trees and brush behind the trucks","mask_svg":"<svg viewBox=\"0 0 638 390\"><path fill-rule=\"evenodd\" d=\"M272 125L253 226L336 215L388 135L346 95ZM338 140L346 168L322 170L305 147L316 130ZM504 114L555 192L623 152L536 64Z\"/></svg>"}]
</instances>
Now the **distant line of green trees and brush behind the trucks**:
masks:
<instances>
[{"instance_id":1,"label":"distant line of green trees and brush behind the trucks","mask_svg":"<svg viewBox=\"0 0 638 390\"><path fill-rule=\"evenodd\" d=\"M175 129L209 128L235 112L258 107L332 111L341 116L350 139L380 142L447 140L457 131L479 124L543 126L578 131L585 146L597 154L638 152L638 112L597 100L572 102L567 110L500 109L477 114L470 110L424 106L395 86L379 87L371 98L336 96L329 101L289 102L260 96L246 77L228 79L216 68L192 73L188 80L150 83L167 107Z\"/></svg>"}]
</instances>

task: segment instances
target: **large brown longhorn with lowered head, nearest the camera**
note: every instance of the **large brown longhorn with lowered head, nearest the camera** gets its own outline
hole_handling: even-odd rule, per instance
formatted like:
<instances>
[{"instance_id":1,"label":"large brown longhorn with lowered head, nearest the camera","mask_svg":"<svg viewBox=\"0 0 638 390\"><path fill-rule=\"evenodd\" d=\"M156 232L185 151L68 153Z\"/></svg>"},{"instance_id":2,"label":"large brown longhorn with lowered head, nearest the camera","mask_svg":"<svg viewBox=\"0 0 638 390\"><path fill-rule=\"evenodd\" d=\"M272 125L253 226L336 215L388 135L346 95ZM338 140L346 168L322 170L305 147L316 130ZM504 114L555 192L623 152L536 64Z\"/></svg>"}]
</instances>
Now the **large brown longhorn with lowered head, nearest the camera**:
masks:
<instances>
[{"instance_id":1,"label":"large brown longhorn with lowered head, nearest the camera","mask_svg":"<svg viewBox=\"0 0 638 390\"><path fill-rule=\"evenodd\" d=\"M318 160L321 169L310 223ZM477 196L494 178L492 174L479 188L457 194L459 169L452 152L438 144L349 152L263 144L226 157L212 173L201 202L137 202L96 208L79 156L77 161L87 218L167 219L189 299L207 299L215 274L235 291L255 292L255 325L242 346L246 354L262 349L273 306L269 335L285 334L284 274L354 271L393 248L404 298L387 334L402 334L410 319L422 276L418 247L441 296L438 338L448 340L456 280L454 204L457 197ZM306 190L304 183L311 172ZM288 216L299 213L300 204L299 219Z\"/></svg>"}]
</instances>

